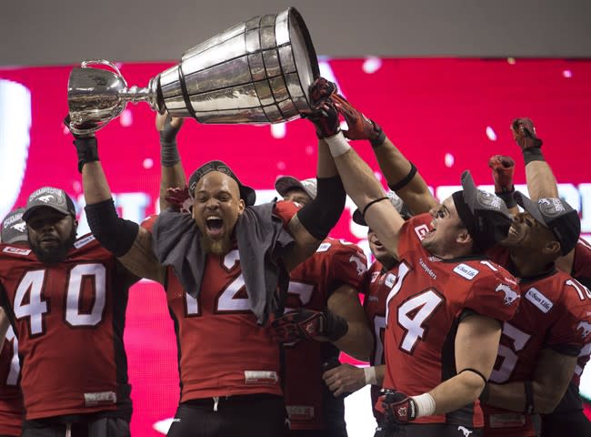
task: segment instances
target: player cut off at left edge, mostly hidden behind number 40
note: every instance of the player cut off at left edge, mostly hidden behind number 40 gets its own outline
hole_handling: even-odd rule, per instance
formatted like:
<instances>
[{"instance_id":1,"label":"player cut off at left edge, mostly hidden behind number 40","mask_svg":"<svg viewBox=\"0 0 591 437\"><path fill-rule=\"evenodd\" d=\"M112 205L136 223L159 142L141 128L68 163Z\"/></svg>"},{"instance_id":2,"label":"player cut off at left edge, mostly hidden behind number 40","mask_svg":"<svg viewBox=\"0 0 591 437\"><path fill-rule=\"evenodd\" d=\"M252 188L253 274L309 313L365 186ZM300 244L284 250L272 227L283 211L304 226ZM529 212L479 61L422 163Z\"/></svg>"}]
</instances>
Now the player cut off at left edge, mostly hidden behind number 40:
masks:
<instances>
[{"instance_id":1,"label":"player cut off at left edge, mostly hidden behind number 40","mask_svg":"<svg viewBox=\"0 0 591 437\"><path fill-rule=\"evenodd\" d=\"M2 221L0 242L27 246L23 212L25 208L16 208L5 217ZM18 340L3 308L0 308L0 345L0 436L21 435L23 393L18 384L21 370L18 361Z\"/></svg>"}]
</instances>

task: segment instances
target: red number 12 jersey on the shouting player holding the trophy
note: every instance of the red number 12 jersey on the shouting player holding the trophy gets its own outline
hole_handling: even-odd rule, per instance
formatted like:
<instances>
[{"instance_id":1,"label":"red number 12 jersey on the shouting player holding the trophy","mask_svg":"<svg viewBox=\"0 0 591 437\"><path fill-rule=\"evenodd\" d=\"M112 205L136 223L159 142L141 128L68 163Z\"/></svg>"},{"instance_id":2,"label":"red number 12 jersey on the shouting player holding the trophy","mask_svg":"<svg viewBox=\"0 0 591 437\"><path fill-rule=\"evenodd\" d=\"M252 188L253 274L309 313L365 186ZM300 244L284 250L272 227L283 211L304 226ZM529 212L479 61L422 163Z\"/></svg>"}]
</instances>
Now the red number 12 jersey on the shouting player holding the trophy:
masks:
<instances>
[{"instance_id":1,"label":"red number 12 jersey on the shouting player holding the trophy","mask_svg":"<svg viewBox=\"0 0 591 437\"><path fill-rule=\"evenodd\" d=\"M277 202L284 223L297 208ZM142 226L150 230L153 219ZM255 393L281 395L279 346L251 311L238 249L225 257L208 254L197 299L185 292L172 267L166 299L175 322L181 402Z\"/></svg>"}]
</instances>

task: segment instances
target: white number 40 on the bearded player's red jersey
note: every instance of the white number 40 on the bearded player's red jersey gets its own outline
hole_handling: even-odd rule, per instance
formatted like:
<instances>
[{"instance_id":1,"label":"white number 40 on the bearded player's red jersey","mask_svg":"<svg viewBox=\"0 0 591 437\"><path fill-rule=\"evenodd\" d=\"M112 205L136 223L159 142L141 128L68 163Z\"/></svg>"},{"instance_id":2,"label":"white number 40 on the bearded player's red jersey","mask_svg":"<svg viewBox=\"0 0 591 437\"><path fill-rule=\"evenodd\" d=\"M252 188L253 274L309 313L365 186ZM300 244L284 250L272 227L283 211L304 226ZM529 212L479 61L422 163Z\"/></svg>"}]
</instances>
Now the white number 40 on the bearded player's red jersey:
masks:
<instances>
[{"instance_id":1,"label":"white number 40 on the bearded player's red jersey","mask_svg":"<svg viewBox=\"0 0 591 437\"><path fill-rule=\"evenodd\" d=\"M47 270L29 270L18 283L15 293L15 319L29 320L31 337L45 332L44 315L48 302L44 295ZM78 264L71 269L65 284L65 323L70 326L96 326L103 319L105 309L106 269L103 264ZM82 299L88 303L80 310L82 291L93 290L93 296Z\"/></svg>"}]
</instances>

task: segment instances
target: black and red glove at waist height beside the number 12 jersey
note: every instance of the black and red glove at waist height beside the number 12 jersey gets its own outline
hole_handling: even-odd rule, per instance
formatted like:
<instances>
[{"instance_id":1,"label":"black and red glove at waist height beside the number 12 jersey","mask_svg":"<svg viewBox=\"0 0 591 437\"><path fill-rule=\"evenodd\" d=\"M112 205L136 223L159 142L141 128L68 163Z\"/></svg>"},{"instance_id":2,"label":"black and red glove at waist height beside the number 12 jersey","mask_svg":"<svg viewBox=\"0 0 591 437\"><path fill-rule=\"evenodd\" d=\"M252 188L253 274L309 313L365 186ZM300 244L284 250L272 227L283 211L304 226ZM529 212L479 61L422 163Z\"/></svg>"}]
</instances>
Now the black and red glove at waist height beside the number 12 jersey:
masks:
<instances>
[{"instance_id":1,"label":"black and red glove at waist height beside the number 12 jersey","mask_svg":"<svg viewBox=\"0 0 591 437\"><path fill-rule=\"evenodd\" d=\"M336 341L346 334L349 325L345 319L329 310L321 312L298 308L273 320L271 329L275 340L281 343L315 340L316 337Z\"/></svg>"}]
</instances>

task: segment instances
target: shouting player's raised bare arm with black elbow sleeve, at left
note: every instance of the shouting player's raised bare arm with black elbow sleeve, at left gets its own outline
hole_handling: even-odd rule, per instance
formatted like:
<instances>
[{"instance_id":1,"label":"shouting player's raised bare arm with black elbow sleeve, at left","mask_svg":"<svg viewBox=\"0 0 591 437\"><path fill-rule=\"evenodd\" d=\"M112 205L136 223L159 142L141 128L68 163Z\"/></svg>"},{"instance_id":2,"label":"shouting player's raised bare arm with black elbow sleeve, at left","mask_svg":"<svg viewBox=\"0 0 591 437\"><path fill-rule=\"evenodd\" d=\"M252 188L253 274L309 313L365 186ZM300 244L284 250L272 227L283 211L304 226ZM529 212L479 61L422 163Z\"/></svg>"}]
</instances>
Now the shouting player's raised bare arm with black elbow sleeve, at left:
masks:
<instances>
[{"instance_id":1,"label":"shouting player's raised bare arm with black elbow sleeve, at left","mask_svg":"<svg viewBox=\"0 0 591 437\"><path fill-rule=\"evenodd\" d=\"M86 219L95 238L133 274L164 284L165 268L155 258L150 233L117 216L111 188L98 160L96 138L75 137L74 144L82 172Z\"/></svg>"}]
</instances>

